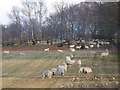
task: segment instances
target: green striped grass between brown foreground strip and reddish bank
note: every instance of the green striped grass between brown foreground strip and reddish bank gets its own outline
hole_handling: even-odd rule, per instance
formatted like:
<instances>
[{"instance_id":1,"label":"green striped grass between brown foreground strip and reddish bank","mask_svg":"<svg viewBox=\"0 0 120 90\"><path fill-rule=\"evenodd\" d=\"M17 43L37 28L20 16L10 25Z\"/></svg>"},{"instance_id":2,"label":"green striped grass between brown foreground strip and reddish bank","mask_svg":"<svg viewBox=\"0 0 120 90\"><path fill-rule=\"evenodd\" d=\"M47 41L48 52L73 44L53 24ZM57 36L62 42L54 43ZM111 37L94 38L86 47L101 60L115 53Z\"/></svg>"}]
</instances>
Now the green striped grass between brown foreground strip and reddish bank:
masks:
<instances>
[{"instance_id":1,"label":"green striped grass between brown foreground strip and reddish bank","mask_svg":"<svg viewBox=\"0 0 120 90\"><path fill-rule=\"evenodd\" d=\"M51 69L52 67L57 68L65 60L65 56L70 55L68 51L64 53L57 51L29 51L24 53L25 55L19 55L19 52L13 51L8 55L3 55L3 75L7 73L6 76L40 76L44 70ZM91 67L95 75L118 75L117 55L110 55L108 58L98 57L93 59L90 57L89 51L76 51L73 54L75 55L75 59L78 57L87 57L82 59L82 66ZM24 62L24 60L27 61ZM79 75L78 67L75 65L69 67L68 73L65 75Z\"/></svg>"}]
</instances>

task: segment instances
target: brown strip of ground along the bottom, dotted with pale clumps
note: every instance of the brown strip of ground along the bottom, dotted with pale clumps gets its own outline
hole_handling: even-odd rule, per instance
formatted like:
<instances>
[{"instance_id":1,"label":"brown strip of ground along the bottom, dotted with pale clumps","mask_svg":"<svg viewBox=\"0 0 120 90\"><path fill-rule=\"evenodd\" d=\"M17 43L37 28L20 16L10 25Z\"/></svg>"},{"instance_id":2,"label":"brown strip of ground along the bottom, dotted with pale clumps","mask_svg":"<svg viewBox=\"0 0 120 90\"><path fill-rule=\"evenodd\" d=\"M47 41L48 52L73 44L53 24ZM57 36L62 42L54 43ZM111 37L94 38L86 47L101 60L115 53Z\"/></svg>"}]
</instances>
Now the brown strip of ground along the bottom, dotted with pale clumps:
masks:
<instances>
[{"instance_id":1,"label":"brown strip of ground along the bottom, dotted with pale clumps","mask_svg":"<svg viewBox=\"0 0 120 90\"><path fill-rule=\"evenodd\" d=\"M3 88L118 88L117 80L61 78L3 78Z\"/></svg>"}]
</instances>

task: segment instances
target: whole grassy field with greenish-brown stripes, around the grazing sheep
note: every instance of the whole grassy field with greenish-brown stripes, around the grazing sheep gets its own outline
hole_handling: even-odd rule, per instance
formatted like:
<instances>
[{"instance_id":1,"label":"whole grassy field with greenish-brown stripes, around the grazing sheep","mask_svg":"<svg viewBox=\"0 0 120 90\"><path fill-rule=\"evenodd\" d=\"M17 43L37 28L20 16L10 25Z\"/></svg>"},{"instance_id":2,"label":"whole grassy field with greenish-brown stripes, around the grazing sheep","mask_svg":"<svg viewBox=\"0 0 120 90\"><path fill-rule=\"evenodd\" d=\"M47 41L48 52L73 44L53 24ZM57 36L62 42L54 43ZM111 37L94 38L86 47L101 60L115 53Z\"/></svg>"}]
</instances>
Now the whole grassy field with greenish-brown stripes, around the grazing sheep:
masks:
<instances>
[{"instance_id":1,"label":"whole grassy field with greenish-brown stripes, around the grazing sheep","mask_svg":"<svg viewBox=\"0 0 120 90\"><path fill-rule=\"evenodd\" d=\"M41 78L44 70L57 68L70 55L70 51L10 51L2 57L3 88L100 88L118 87L118 58L110 53L108 58L92 58L90 51L76 51L75 59L81 57L82 66L91 67L88 75L79 74L78 66L68 67L64 77ZM100 50L97 52L101 52ZM75 79L78 78L78 79Z\"/></svg>"}]
</instances>

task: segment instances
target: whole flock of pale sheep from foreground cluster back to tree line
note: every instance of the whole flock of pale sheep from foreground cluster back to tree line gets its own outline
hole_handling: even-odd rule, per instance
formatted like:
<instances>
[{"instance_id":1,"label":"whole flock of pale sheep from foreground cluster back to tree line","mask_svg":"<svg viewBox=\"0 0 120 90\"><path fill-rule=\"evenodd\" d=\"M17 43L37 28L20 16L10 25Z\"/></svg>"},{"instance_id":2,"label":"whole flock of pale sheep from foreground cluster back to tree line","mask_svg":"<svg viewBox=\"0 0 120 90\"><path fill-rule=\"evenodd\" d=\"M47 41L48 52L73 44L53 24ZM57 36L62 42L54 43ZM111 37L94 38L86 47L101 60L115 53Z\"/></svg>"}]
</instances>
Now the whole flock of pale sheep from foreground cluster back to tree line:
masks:
<instances>
[{"instance_id":1,"label":"whole flock of pale sheep from foreground cluster back to tree line","mask_svg":"<svg viewBox=\"0 0 120 90\"><path fill-rule=\"evenodd\" d=\"M101 45L109 44L109 42L100 42L100 43L101 43ZM85 45L85 49L93 48L95 45L97 48L100 48L100 43L91 42L89 46ZM70 45L71 52L75 52L75 50L76 50L75 47L76 47L76 49L81 49L81 46ZM49 51L49 48L44 49L44 51ZM63 52L63 50L58 49L58 52ZM90 51L90 53L92 54L92 57L96 57L96 55L98 54L96 51ZM106 49L105 51L100 53L101 57L107 57L108 55L109 55L108 49ZM70 56L66 56L66 59L63 62L63 64L58 65L57 68L51 68L50 70L44 71L42 73L42 78L45 78L45 77L51 78L56 73L58 76L64 76L65 72L67 72L68 67L73 64L76 64L79 66L78 73L86 74L86 73L92 72L92 69L90 67L81 67L81 65L82 65L81 59L79 58L78 60L74 60L74 56L71 54Z\"/></svg>"}]
</instances>

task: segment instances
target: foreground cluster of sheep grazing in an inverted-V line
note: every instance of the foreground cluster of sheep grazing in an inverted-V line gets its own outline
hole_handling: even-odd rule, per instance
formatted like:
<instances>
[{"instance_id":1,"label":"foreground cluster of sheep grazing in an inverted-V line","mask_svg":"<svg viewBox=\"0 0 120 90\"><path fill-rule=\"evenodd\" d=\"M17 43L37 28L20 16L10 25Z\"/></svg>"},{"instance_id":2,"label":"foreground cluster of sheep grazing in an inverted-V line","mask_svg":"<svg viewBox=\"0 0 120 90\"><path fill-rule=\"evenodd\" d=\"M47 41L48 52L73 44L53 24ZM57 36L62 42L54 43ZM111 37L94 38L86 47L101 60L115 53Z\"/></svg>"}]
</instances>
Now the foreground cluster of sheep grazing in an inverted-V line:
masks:
<instances>
[{"instance_id":1,"label":"foreground cluster of sheep grazing in an inverted-V line","mask_svg":"<svg viewBox=\"0 0 120 90\"><path fill-rule=\"evenodd\" d=\"M70 56L66 56L66 60L63 64L58 65L57 68L51 68L50 70L46 70L42 73L42 78L48 77L52 78L55 74L58 76L64 76L65 72L67 72L68 67L72 66L73 64L78 65L79 70L78 73L91 73L92 69L90 67L81 67L81 59L74 60L74 56L71 54Z\"/></svg>"}]
</instances>

